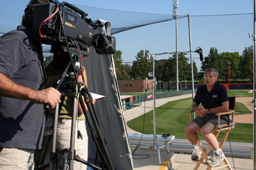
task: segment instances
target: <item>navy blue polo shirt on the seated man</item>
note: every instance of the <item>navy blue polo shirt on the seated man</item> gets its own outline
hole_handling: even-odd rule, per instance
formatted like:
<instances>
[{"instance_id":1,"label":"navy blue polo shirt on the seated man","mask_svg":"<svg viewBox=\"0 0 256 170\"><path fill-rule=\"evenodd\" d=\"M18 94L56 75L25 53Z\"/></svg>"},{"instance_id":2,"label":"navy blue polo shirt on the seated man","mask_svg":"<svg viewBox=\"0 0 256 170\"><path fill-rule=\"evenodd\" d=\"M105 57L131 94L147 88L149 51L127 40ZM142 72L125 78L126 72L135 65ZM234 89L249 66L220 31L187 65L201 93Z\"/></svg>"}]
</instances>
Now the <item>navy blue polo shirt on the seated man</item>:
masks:
<instances>
[{"instance_id":1,"label":"navy blue polo shirt on the seated man","mask_svg":"<svg viewBox=\"0 0 256 170\"><path fill-rule=\"evenodd\" d=\"M211 92L208 92L206 85L198 87L194 98L194 102L196 104L202 103L205 109L217 108L225 101L228 101L227 89L217 82L215 82Z\"/></svg>"}]
</instances>

